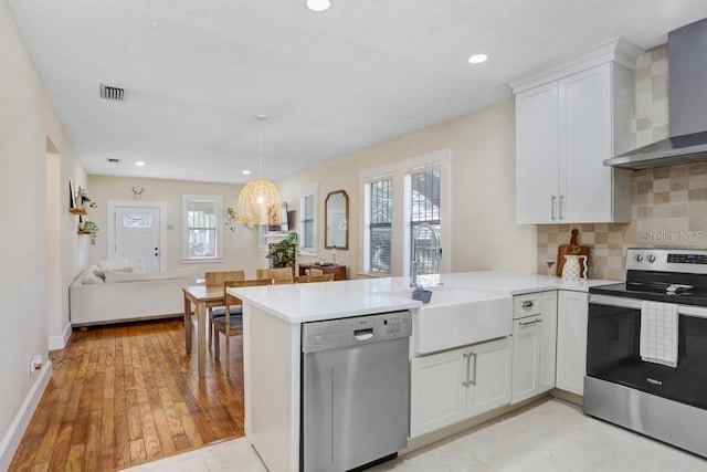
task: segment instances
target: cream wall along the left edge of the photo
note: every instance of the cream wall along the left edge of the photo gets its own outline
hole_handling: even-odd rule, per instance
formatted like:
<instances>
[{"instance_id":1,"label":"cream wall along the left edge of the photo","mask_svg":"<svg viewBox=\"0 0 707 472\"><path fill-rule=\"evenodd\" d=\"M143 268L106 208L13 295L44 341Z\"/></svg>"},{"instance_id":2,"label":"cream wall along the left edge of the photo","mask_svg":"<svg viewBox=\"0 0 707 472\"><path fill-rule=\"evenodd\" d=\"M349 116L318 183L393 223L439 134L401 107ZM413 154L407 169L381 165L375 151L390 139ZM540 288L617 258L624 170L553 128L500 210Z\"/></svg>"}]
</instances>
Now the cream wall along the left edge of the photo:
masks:
<instances>
[{"instance_id":1,"label":"cream wall along the left edge of the photo","mask_svg":"<svg viewBox=\"0 0 707 472\"><path fill-rule=\"evenodd\" d=\"M40 384L46 380L41 374L28 375L29 358L46 357L48 338L61 336L68 324L65 298L54 314L61 319L46 317L45 266L48 248L52 248L45 231L48 138L61 155L64 183L68 178L85 180L85 174L6 0L0 0L0 221L4 229L0 240L0 470L4 470L33 412L32 401L42 394ZM68 190L62 193L62 208L67 207ZM82 258L74 220L68 211L61 213L61 242L53 245L62 251L62 294L67 293L67 281L76 275ZM50 333L49 325L57 333Z\"/></svg>"}]
</instances>

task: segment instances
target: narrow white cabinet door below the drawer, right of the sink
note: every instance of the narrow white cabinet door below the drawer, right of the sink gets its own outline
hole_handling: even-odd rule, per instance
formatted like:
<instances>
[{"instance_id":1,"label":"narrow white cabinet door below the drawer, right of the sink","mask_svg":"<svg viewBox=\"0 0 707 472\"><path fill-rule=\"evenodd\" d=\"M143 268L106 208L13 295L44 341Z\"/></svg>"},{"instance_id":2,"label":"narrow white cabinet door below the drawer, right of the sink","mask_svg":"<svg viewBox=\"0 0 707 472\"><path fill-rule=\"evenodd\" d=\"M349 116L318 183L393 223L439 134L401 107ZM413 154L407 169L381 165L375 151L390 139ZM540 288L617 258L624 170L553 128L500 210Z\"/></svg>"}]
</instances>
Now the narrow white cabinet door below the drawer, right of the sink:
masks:
<instances>
[{"instance_id":1,"label":"narrow white cabinet door below the drawer, right of the sink","mask_svg":"<svg viewBox=\"0 0 707 472\"><path fill-rule=\"evenodd\" d=\"M517 403L538 394L542 316L513 321L513 391Z\"/></svg>"}]
</instances>

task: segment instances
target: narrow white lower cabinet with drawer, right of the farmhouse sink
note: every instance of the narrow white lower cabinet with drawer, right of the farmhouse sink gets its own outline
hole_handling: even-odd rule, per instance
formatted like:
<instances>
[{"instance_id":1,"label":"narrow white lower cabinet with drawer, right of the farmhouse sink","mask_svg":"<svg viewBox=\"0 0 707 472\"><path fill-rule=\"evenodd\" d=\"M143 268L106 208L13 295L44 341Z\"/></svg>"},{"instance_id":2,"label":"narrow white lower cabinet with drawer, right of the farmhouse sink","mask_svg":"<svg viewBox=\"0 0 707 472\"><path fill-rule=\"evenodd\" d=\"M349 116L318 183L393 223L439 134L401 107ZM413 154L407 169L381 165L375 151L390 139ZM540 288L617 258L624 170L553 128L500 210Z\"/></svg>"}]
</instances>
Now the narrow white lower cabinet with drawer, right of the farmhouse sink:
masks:
<instances>
[{"instance_id":1,"label":"narrow white lower cabinet with drawer, right of the farmhouse sink","mask_svg":"<svg viewBox=\"0 0 707 472\"><path fill-rule=\"evenodd\" d=\"M556 291L514 297L511 403L555 387L556 334Z\"/></svg>"}]
</instances>

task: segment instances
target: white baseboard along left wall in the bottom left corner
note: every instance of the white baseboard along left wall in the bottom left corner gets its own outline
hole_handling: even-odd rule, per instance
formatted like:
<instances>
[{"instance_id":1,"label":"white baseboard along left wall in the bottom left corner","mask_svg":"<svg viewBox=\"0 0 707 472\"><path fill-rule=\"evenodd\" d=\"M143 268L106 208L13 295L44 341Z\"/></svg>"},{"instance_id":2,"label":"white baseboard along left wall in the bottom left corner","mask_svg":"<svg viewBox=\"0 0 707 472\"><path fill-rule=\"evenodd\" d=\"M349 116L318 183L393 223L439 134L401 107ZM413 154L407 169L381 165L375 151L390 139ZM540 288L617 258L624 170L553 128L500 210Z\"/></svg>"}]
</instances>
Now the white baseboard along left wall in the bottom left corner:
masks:
<instances>
[{"instance_id":1,"label":"white baseboard along left wall in the bottom left corner","mask_svg":"<svg viewBox=\"0 0 707 472\"><path fill-rule=\"evenodd\" d=\"M27 427L30 424L30 420L51 378L52 363L46 359L42 366L42 370L40 370L40 375L36 377L36 380L34 380L34 385L32 385L20 409L12 419L10 428L8 428L2 440L0 440L0 471L10 469L12 458L20 447L24 431L27 431Z\"/></svg>"}]
</instances>

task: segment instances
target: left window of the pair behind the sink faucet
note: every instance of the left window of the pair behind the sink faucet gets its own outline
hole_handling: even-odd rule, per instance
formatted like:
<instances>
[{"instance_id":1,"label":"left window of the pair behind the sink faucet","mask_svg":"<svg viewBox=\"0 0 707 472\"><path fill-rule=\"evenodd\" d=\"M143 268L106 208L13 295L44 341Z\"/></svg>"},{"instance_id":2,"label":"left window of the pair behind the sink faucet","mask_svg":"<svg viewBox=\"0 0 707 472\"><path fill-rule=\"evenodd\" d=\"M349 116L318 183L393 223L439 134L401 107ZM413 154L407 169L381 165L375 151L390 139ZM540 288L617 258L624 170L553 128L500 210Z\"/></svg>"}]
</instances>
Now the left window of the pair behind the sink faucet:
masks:
<instances>
[{"instance_id":1,"label":"left window of the pair behind the sink faucet","mask_svg":"<svg viewBox=\"0 0 707 472\"><path fill-rule=\"evenodd\" d=\"M365 189L365 270L370 273L391 273L392 183L389 176L369 181Z\"/></svg>"}]
</instances>

